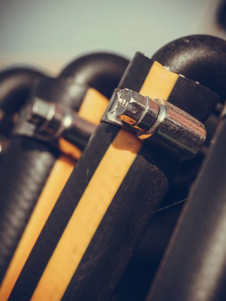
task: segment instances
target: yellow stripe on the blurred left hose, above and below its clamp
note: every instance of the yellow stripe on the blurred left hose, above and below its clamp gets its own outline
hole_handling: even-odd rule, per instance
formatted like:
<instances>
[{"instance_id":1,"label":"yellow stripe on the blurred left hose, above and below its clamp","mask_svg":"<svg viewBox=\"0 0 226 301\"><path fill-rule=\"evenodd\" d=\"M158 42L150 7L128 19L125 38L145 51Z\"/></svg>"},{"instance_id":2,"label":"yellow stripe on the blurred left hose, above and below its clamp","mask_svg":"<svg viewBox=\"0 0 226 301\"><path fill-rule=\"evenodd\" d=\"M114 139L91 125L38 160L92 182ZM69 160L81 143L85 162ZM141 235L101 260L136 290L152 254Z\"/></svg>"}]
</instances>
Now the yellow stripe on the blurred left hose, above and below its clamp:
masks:
<instances>
[{"instance_id":1,"label":"yellow stripe on the blurred left hose, above and below its clamp","mask_svg":"<svg viewBox=\"0 0 226 301\"><path fill-rule=\"evenodd\" d=\"M95 89L89 88L78 114L85 120L98 124L107 104L108 100L102 94ZM65 142L64 145L68 150L68 147L71 145L70 143L67 145ZM79 150L77 156L78 158L80 156ZM74 169L74 165L74 161L67 159L65 156L61 156L55 162L3 279L0 287L1 301L8 300L36 240Z\"/></svg>"}]
</instances>

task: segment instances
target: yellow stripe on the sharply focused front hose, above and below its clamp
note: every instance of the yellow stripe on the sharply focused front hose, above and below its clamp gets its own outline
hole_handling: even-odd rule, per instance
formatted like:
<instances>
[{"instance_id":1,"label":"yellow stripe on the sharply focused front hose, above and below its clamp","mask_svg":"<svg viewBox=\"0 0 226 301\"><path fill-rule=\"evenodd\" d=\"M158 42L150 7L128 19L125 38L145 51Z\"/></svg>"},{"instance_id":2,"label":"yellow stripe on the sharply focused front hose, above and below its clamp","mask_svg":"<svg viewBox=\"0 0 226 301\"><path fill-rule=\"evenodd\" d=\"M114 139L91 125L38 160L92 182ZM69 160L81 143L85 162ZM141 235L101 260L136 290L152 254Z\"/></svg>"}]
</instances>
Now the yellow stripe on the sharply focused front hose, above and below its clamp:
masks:
<instances>
[{"instance_id":1,"label":"yellow stripe on the sharply focused front hose, above and below its clamp","mask_svg":"<svg viewBox=\"0 0 226 301\"><path fill-rule=\"evenodd\" d=\"M151 98L168 99L178 75L154 63L140 90ZM71 216L31 301L61 300L97 227L131 168L141 140L121 129L108 147Z\"/></svg>"}]
</instances>

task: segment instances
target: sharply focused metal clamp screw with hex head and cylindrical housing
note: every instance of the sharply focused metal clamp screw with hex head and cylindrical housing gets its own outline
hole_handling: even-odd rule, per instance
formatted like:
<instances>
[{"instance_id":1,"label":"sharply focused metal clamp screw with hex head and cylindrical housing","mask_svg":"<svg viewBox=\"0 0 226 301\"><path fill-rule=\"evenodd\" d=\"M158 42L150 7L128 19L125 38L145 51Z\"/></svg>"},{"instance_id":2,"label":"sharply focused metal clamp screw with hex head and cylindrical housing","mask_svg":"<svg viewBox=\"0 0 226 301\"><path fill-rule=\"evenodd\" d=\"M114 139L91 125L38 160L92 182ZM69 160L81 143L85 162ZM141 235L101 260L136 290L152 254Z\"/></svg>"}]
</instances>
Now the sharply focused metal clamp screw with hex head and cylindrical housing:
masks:
<instances>
[{"instance_id":1,"label":"sharply focused metal clamp screw with hex head and cylindrical housing","mask_svg":"<svg viewBox=\"0 0 226 301\"><path fill-rule=\"evenodd\" d=\"M136 132L137 136L164 153L187 160L201 149L204 125L185 111L163 99L150 99L129 89L117 90L112 114Z\"/></svg>"}]
</instances>

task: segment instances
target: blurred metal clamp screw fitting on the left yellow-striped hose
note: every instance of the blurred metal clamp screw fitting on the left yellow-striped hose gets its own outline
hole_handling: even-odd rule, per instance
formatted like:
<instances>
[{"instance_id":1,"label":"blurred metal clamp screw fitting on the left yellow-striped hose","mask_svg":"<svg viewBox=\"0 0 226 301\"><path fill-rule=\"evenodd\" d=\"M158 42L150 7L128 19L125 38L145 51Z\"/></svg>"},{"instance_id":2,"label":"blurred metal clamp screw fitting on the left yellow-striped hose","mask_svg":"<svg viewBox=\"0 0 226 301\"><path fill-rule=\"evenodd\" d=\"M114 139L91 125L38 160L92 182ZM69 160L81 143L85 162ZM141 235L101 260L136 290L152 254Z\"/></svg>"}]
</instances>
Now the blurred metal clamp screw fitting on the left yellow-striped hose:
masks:
<instances>
[{"instance_id":1,"label":"blurred metal clamp screw fitting on the left yellow-striped hose","mask_svg":"<svg viewBox=\"0 0 226 301\"><path fill-rule=\"evenodd\" d=\"M19 113L13 135L48 142L62 153L78 159L79 151L85 148L95 127L65 105L35 98Z\"/></svg>"}]
</instances>

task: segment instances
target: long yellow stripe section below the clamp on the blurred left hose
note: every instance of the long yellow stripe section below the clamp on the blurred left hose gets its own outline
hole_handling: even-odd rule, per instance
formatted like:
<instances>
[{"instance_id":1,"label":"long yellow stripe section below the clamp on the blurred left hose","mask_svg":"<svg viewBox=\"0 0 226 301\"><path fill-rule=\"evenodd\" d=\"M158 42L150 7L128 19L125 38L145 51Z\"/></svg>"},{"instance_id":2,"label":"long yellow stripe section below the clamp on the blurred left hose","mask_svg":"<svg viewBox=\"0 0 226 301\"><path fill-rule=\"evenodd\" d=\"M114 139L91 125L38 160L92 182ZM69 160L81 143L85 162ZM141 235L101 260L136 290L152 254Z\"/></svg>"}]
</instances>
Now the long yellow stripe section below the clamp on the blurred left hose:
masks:
<instances>
[{"instance_id":1,"label":"long yellow stripe section below the clamp on the blurred left hose","mask_svg":"<svg viewBox=\"0 0 226 301\"><path fill-rule=\"evenodd\" d=\"M1 301L9 298L28 256L73 168L74 165L64 156L56 161L3 279L0 288ZM55 196L57 198L54 198Z\"/></svg>"}]
</instances>

